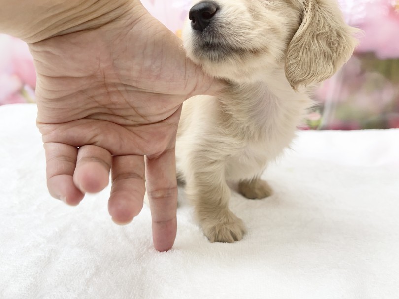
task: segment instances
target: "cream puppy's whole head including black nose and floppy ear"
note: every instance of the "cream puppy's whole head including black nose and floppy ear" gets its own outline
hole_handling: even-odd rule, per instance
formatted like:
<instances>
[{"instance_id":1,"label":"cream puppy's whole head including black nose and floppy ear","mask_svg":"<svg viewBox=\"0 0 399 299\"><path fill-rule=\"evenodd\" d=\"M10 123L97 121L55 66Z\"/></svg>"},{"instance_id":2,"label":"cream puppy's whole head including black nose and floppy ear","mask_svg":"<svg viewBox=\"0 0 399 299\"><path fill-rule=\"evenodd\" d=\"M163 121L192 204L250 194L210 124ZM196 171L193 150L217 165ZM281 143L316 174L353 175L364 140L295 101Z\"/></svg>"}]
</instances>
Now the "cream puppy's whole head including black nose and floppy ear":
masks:
<instances>
[{"instance_id":1,"label":"cream puppy's whole head including black nose and floppy ear","mask_svg":"<svg viewBox=\"0 0 399 299\"><path fill-rule=\"evenodd\" d=\"M320 82L349 59L356 40L335 0L201 0L183 30L187 55L210 75L262 80L285 68L294 89Z\"/></svg>"}]
</instances>

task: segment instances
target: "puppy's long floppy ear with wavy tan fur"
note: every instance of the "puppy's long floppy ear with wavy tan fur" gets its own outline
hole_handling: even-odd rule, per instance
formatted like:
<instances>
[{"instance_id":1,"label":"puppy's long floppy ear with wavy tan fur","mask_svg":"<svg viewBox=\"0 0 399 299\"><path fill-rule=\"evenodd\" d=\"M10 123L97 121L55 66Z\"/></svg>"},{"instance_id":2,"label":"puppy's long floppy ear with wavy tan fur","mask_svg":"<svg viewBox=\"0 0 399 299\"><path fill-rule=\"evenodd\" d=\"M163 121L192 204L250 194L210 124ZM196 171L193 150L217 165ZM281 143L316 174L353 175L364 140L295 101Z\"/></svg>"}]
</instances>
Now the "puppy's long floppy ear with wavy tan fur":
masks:
<instances>
[{"instance_id":1,"label":"puppy's long floppy ear with wavy tan fur","mask_svg":"<svg viewBox=\"0 0 399 299\"><path fill-rule=\"evenodd\" d=\"M336 0L304 0L302 23L291 40L285 75L294 90L330 78L352 55L358 30L345 24Z\"/></svg>"}]
</instances>

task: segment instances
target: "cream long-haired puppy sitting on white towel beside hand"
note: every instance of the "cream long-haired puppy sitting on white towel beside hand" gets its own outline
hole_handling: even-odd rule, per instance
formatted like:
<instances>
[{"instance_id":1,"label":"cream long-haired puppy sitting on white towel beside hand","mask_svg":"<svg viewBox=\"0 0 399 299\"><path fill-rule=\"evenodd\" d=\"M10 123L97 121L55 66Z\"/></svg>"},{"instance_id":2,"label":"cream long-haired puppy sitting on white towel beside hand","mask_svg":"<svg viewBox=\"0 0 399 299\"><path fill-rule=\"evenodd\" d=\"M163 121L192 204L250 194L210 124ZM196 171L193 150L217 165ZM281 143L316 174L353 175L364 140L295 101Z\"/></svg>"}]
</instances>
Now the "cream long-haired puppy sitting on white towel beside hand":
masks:
<instances>
[{"instance_id":1,"label":"cream long-haired puppy sitting on white towel beside hand","mask_svg":"<svg viewBox=\"0 0 399 299\"><path fill-rule=\"evenodd\" d=\"M183 30L189 58L226 80L219 97L187 100L177 133L177 171L211 242L242 239L226 181L248 198L272 193L260 179L294 138L311 100L306 87L351 56L355 29L336 0L196 2Z\"/></svg>"}]
</instances>

